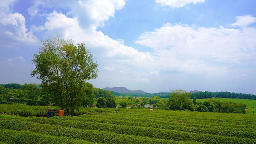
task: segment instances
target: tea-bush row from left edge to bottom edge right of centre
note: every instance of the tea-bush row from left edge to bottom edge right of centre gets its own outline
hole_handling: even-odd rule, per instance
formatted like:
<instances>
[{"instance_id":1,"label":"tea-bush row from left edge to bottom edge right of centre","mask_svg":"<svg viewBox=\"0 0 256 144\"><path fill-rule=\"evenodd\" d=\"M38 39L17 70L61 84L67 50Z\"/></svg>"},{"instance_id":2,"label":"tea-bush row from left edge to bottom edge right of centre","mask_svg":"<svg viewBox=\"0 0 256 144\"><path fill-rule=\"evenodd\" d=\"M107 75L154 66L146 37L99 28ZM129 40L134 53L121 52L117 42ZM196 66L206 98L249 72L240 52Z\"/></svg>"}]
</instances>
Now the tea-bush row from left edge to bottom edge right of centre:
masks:
<instances>
[{"instance_id":1,"label":"tea-bush row from left edge to bottom edge right of centre","mask_svg":"<svg viewBox=\"0 0 256 144\"><path fill-rule=\"evenodd\" d=\"M19 120L0 120L0 128L10 130L26 130L40 134L70 137L78 140L86 140L89 142L100 142L106 144L198 144L198 142L163 140L143 136L115 134L113 132L107 131L82 130L64 126L38 124L34 122L26 122Z\"/></svg>"}]
</instances>

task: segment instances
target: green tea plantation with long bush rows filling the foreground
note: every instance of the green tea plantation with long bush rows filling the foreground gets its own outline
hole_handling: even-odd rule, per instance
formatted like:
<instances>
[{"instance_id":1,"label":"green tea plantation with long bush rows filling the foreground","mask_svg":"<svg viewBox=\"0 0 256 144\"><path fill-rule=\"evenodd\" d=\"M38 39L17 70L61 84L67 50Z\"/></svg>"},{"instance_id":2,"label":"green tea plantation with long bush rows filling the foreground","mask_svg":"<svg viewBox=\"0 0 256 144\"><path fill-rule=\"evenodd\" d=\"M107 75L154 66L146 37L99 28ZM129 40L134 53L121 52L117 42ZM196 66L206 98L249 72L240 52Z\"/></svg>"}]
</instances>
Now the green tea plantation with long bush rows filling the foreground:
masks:
<instances>
[{"instance_id":1,"label":"green tea plantation with long bush rows filling the foreground","mask_svg":"<svg viewBox=\"0 0 256 144\"><path fill-rule=\"evenodd\" d=\"M9 110L3 111L4 106ZM49 107L34 108L11 113L15 106L1 105L2 143L256 143L255 117L248 114L84 108L81 116L45 118L41 114Z\"/></svg>"}]
</instances>

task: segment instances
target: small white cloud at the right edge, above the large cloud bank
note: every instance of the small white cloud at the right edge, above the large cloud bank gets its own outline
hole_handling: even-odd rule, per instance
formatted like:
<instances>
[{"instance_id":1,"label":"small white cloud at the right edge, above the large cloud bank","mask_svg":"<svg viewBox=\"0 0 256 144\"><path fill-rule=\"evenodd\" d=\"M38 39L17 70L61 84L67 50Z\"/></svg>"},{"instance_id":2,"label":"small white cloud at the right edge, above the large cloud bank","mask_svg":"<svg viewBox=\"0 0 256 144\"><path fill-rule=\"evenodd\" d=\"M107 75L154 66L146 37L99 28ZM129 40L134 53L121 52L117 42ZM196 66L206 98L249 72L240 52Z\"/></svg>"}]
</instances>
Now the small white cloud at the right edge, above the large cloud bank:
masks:
<instances>
[{"instance_id":1,"label":"small white cloud at the right edge, above the large cloud bank","mask_svg":"<svg viewBox=\"0 0 256 144\"><path fill-rule=\"evenodd\" d=\"M252 17L251 15L237 16L236 22L231 24L231 26L248 26L255 22L256 22L256 18Z\"/></svg>"}]
</instances>

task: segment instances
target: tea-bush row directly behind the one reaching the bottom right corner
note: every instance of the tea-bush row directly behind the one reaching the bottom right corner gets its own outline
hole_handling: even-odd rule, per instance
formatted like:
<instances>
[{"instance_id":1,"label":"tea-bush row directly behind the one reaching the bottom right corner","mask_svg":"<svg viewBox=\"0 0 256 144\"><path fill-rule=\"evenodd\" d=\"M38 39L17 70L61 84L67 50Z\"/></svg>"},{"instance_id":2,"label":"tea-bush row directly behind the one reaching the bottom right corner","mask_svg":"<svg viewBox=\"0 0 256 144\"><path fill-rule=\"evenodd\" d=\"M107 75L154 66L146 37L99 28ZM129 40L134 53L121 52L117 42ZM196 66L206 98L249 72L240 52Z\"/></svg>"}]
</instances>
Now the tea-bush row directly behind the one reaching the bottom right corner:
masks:
<instances>
[{"instance_id":1,"label":"tea-bush row directly behind the one reaching the bottom right corner","mask_svg":"<svg viewBox=\"0 0 256 144\"><path fill-rule=\"evenodd\" d=\"M54 120L52 120L54 119ZM60 121L59 121L60 120ZM73 120L79 122L98 122L98 123L105 123L105 124L116 124L116 125L124 125L124 126L142 126L142 127L150 127L150 128L160 128L160 129L167 129L167 130L179 130L183 132L193 132L197 134L214 134L219 136L231 136L231 137L240 137L240 138L255 138L255 132L246 132L246 131L234 131L234 130L220 130L216 128L200 128L200 127L187 127L187 126L179 126L174 124L156 124L156 123L149 123L149 122L131 122L131 121L124 121L124 120L108 120L104 118L96 119L96 118L80 118L80 117L53 117L50 119L45 118L33 118L29 121L38 122L38 123L49 123L52 124L55 122L62 122L61 120ZM65 122L65 121L64 121ZM225 127L222 127L225 129Z\"/></svg>"}]
</instances>

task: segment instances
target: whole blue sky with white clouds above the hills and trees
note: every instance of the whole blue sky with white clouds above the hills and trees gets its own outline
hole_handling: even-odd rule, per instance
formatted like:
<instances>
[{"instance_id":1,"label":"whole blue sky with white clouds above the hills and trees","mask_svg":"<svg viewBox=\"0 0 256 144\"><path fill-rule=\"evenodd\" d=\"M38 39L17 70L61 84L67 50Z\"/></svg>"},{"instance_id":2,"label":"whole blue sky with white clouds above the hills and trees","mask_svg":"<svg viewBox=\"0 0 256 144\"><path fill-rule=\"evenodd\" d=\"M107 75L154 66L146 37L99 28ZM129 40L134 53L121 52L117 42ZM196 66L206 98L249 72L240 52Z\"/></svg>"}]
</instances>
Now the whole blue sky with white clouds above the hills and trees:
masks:
<instances>
[{"instance_id":1,"label":"whole blue sky with white clouds above the hills and trees","mask_svg":"<svg viewBox=\"0 0 256 144\"><path fill-rule=\"evenodd\" d=\"M0 0L0 84L31 77L41 40L85 43L96 88L256 94L255 0Z\"/></svg>"}]
</instances>

